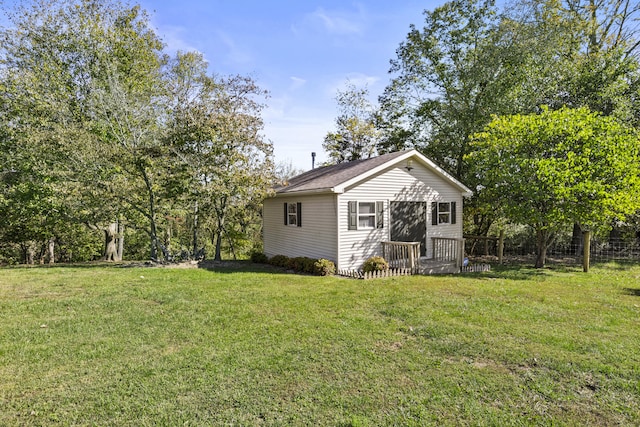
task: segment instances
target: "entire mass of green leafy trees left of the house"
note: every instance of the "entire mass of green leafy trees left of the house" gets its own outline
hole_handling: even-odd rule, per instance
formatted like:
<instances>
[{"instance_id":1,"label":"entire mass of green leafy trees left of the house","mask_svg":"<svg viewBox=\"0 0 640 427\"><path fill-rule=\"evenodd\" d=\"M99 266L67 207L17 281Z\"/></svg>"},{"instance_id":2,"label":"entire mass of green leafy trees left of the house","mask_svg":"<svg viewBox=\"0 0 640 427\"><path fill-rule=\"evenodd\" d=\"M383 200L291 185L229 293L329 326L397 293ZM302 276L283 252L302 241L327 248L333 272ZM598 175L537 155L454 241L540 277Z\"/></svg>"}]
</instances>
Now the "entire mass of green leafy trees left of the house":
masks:
<instances>
[{"instance_id":1,"label":"entire mass of green leafy trees left of the house","mask_svg":"<svg viewBox=\"0 0 640 427\"><path fill-rule=\"evenodd\" d=\"M27 244L56 227L121 222L146 231L145 258L195 252L200 231L214 236L218 259L224 246L248 252L272 182L264 90L210 75L201 54L169 61L139 6L38 1L7 16L0 237Z\"/></svg>"}]
</instances>

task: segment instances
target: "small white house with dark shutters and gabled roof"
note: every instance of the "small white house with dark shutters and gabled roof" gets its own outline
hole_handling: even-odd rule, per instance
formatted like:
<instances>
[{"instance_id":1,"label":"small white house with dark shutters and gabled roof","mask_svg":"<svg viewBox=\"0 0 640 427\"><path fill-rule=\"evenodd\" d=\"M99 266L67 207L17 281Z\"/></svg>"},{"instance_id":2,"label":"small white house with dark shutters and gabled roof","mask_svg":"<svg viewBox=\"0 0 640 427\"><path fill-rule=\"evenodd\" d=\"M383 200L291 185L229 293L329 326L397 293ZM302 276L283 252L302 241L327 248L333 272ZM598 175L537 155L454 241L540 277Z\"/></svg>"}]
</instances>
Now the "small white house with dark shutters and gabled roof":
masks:
<instances>
[{"instance_id":1,"label":"small white house with dark shutters and gabled roof","mask_svg":"<svg viewBox=\"0 0 640 427\"><path fill-rule=\"evenodd\" d=\"M423 260L453 250L459 261L463 197L471 194L416 150L313 169L265 200L264 252L360 270L391 242L417 242Z\"/></svg>"}]
</instances>

